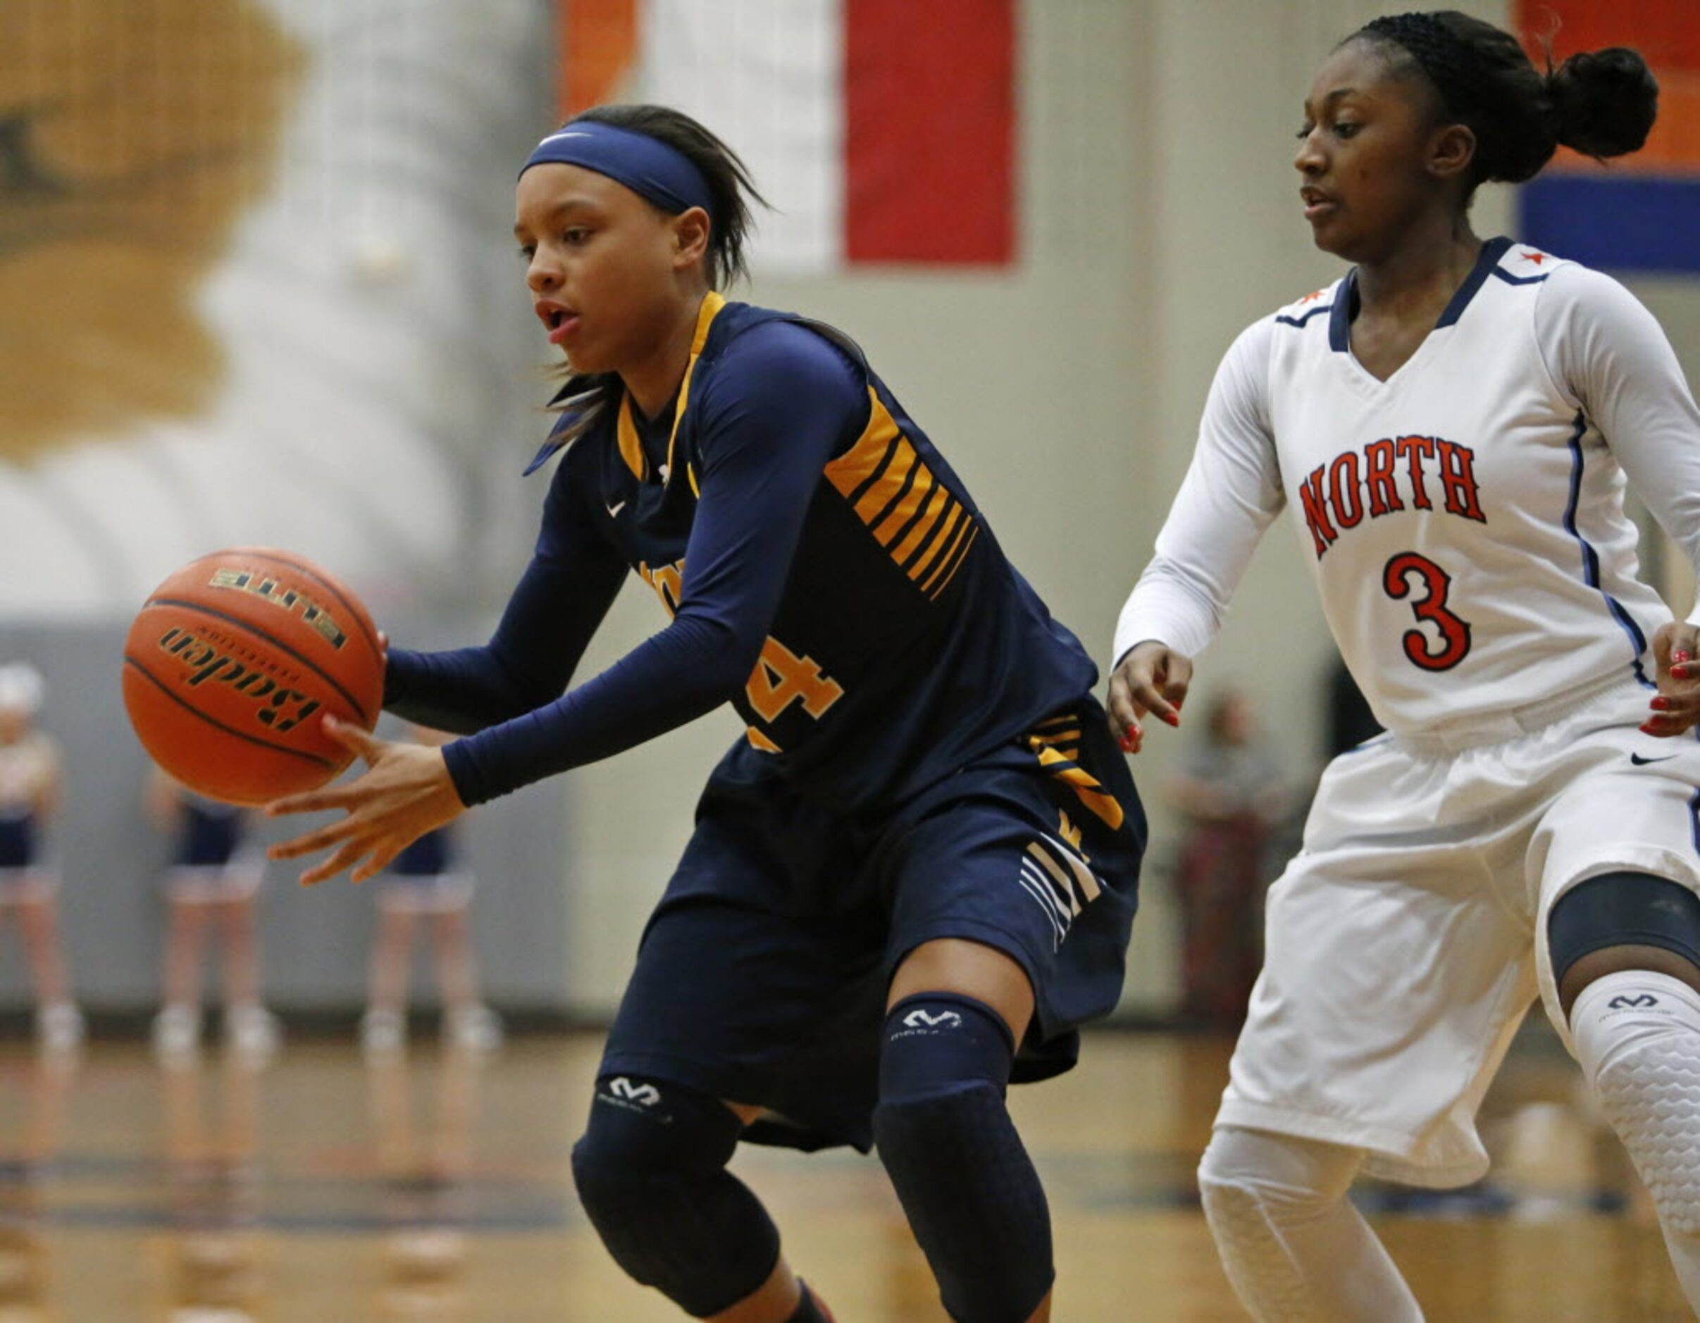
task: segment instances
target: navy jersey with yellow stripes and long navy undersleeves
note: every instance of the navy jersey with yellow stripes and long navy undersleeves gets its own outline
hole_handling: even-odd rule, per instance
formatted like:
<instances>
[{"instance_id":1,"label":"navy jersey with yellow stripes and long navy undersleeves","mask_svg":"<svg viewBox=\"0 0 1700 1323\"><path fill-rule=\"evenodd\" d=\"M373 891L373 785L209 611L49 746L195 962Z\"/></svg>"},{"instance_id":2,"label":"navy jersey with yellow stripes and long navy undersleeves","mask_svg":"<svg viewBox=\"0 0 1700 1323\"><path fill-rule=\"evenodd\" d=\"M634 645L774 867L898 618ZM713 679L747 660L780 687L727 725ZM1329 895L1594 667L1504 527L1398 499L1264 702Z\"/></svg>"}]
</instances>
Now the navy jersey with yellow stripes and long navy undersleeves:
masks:
<instances>
[{"instance_id":1,"label":"navy jersey with yellow stripes and long navy undersleeves","mask_svg":"<svg viewBox=\"0 0 1700 1323\"><path fill-rule=\"evenodd\" d=\"M563 697L629 571L672 624ZM850 811L1023 738L1095 679L855 345L709 294L672 408L615 393L566 447L490 644L391 650L386 704L478 731L444 753L471 804L729 701L774 774Z\"/></svg>"}]
</instances>

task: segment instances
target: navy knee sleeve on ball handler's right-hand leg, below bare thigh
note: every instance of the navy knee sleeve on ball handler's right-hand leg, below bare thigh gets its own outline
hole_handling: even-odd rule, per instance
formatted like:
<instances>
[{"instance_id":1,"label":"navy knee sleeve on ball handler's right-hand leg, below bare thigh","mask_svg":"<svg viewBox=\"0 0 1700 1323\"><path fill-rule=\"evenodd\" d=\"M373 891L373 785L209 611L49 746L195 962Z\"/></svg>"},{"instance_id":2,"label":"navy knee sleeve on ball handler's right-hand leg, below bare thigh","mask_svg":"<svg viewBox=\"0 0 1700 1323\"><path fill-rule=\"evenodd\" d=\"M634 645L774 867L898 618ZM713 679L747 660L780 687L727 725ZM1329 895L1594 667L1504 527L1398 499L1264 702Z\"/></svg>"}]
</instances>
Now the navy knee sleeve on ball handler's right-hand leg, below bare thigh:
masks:
<instances>
[{"instance_id":1,"label":"navy knee sleeve on ball handler's right-hand leg, below bare thigh","mask_svg":"<svg viewBox=\"0 0 1700 1323\"><path fill-rule=\"evenodd\" d=\"M1003 1105L1013 1059L971 997L908 997L886 1019L874 1139L957 1323L1025 1323L1056 1275L1046 1192Z\"/></svg>"}]
</instances>

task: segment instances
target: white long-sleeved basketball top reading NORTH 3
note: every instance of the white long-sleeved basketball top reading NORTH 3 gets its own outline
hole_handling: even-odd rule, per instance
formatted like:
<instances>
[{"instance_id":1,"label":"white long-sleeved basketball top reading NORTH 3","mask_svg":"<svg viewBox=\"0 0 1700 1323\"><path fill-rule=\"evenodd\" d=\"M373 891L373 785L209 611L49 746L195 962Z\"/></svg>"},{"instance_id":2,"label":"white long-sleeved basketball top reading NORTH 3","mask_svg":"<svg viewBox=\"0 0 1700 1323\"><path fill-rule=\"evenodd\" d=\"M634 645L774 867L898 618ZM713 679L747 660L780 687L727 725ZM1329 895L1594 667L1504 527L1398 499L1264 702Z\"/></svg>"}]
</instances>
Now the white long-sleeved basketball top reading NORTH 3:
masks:
<instances>
[{"instance_id":1,"label":"white long-sleeved basketball top reading NORTH 3","mask_svg":"<svg viewBox=\"0 0 1700 1323\"><path fill-rule=\"evenodd\" d=\"M1119 658L1216 633L1285 505L1375 716L1420 733L1610 677L1651 677L1669 617L1637 580L1625 471L1700 554L1700 413L1615 281L1510 240L1482 248L1387 381L1350 350L1355 275L1236 340Z\"/></svg>"}]
</instances>

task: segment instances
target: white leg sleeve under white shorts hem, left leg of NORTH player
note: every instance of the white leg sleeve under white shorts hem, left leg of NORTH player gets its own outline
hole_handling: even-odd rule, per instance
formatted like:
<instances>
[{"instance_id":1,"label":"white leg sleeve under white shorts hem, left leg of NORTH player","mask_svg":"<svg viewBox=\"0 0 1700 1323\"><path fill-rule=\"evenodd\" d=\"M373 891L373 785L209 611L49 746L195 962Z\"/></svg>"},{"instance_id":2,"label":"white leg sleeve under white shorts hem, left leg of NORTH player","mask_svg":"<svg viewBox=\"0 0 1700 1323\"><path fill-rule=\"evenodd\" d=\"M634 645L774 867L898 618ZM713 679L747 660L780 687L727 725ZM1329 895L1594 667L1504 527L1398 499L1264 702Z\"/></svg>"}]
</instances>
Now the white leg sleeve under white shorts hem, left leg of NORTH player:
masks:
<instances>
[{"instance_id":1,"label":"white leg sleeve under white shorts hem, left leg of NORTH player","mask_svg":"<svg viewBox=\"0 0 1700 1323\"><path fill-rule=\"evenodd\" d=\"M1258 1323L1421 1323L1346 1190L1363 1150L1221 1126L1198 1163L1227 1279Z\"/></svg>"}]
</instances>

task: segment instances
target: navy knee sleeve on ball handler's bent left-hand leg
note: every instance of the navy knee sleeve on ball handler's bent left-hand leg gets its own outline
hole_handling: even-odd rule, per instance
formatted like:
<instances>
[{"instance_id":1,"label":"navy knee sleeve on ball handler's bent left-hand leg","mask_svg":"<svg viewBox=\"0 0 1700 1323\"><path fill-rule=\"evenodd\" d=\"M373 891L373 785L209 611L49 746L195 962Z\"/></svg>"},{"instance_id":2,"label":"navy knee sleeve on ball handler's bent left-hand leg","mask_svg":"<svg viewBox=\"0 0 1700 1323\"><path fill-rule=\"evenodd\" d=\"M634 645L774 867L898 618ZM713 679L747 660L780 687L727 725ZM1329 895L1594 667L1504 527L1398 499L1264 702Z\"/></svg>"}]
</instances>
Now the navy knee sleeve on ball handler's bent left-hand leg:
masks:
<instances>
[{"instance_id":1,"label":"navy knee sleeve on ball handler's bent left-hand leg","mask_svg":"<svg viewBox=\"0 0 1700 1323\"><path fill-rule=\"evenodd\" d=\"M597 1235L632 1280L707 1318L779 1263L779 1231L726 1170L741 1126L719 1099L617 1075L597 1080L573 1144L573 1184Z\"/></svg>"}]
</instances>

